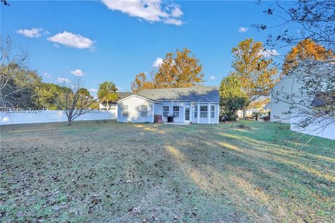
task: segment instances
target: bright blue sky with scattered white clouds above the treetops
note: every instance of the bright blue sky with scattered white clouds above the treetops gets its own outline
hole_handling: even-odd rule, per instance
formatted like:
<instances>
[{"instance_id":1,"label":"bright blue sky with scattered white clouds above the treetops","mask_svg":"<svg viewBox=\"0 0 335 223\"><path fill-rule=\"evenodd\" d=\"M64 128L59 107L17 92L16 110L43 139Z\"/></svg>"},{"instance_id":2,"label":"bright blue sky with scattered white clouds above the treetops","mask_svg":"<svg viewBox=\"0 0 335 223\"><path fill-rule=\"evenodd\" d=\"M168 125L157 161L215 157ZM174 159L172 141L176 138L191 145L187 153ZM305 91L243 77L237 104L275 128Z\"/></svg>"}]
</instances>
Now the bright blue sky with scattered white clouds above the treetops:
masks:
<instances>
[{"instance_id":1,"label":"bright blue sky with scattered white clouds above the treetops","mask_svg":"<svg viewBox=\"0 0 335 223\"><path fill-rule=\"evenodd\" d=\"M82 75L91 93L106 80L130 91L136 74L184 47L200 59L204 84L215 86L231 70L232 47L246 38L265 42L251 24L278 24L262 13L271 3L10 1L1 5L1 36L28 49L28 66L45 82Z\"/></svg>"}]
</instances>

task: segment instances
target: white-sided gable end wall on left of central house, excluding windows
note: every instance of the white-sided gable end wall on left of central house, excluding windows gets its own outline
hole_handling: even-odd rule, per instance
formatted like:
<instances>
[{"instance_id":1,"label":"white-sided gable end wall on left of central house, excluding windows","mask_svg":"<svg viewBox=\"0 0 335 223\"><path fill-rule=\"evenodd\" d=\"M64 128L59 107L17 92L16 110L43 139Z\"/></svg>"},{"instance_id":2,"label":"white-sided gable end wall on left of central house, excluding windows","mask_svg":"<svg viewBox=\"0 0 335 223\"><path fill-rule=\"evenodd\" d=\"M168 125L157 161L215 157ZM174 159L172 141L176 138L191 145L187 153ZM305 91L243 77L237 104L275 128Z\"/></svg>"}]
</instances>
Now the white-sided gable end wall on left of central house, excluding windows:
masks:
<instances>
[{"instance_id":1,"label":"white-sided gable end wall on left of central house, excluding windows","mask_svg":"<svg viewBox=\"0 0 335 223\"><path fill-rule=\"evenodd\" d=\"M128 105L128 116L122 116L123 105ZM141 106L147 105L148 116L141 117ZM117 103L117 121L121 123L152 123L154 121L154 103L132 95Z\"/></svg>"}]
</instances>

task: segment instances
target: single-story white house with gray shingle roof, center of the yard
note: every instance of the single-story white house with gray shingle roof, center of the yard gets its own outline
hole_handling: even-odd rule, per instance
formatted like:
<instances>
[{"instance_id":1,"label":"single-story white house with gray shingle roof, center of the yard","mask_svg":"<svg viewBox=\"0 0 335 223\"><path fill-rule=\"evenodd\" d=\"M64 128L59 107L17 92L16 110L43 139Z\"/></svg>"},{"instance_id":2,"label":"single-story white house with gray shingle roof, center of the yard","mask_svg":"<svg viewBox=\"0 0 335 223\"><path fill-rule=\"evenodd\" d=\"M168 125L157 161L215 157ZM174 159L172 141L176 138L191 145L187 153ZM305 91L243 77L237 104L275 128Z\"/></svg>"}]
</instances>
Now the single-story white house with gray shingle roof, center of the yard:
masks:
<instances>
[{"instance_id":1,"label":"single-story white house with gray shingle roof, center of the yard","mask_svg":"<svg viewBox=\"0 0 335 223\"><path fill-rule=\"evenodd\" d=\"M217 124L217 87L193 86L178 89L144 89L117 102L117 121Z\"/></svg>"}]
</instances>

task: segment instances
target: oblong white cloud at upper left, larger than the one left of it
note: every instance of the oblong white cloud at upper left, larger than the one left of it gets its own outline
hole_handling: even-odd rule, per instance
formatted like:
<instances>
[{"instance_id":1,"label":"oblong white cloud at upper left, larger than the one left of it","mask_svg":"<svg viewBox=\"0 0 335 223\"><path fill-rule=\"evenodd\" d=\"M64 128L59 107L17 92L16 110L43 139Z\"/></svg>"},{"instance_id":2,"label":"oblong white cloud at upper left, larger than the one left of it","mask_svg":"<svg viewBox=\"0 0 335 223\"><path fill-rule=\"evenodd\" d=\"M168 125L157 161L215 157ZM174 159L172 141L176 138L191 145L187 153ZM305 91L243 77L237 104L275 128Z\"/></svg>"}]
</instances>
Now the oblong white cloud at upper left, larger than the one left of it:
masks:
<instances>
[{"instance_id":1,"label":"oblong white cloud at upper left, larger than the one left of it","mask_svg":"<svg viewBox=\"0 0 335 223\"><path fill-rule=\"evenodd\" d=\"M47 40L65 45L66 47L75 47L78 49L92 49L94 44L94 41L89 38L81 36L80 34L69 33L67 31L50 36Z\"/></svg>"}]
</instances>

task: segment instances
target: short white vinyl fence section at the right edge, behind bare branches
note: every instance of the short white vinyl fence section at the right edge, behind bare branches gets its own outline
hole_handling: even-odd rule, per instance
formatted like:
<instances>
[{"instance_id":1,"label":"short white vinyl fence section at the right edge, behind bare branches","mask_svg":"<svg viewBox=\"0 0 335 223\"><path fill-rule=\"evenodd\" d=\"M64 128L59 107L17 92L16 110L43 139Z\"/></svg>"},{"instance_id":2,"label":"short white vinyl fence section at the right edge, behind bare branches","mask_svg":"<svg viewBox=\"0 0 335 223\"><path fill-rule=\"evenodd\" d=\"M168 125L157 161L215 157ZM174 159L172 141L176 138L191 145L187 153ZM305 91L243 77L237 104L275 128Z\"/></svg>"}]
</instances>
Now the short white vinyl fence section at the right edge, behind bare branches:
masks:
<instances>
[{"instance_id":1,"label":"short white vinyl fence section at the right edge, behind bare branches","mask_svg":"<svg viewBox=\"0 0 335 223\"><path fill-rule=\"evenodd\" d=\"M303 120L304 117L297 117L296 115L293 115L293 117L294 118L290 118L290 129L292 131L301 132L304 134L311 134L326 139L335 139L335 122L327 120L327 123L331 123L327 125L327 123L322 123L322 121L315 121L314 123L308 125L306 128L299 128L297 127L296 123L299 123L299 121ZM325 124L327 125L327 128L323 129L322 127L324 127Z\"/></svg>"}]
</instances>

